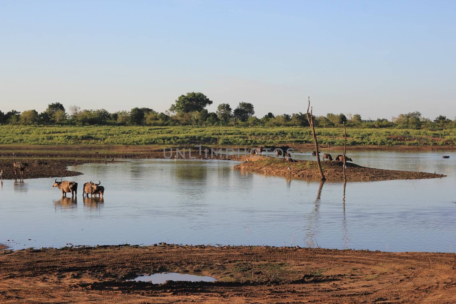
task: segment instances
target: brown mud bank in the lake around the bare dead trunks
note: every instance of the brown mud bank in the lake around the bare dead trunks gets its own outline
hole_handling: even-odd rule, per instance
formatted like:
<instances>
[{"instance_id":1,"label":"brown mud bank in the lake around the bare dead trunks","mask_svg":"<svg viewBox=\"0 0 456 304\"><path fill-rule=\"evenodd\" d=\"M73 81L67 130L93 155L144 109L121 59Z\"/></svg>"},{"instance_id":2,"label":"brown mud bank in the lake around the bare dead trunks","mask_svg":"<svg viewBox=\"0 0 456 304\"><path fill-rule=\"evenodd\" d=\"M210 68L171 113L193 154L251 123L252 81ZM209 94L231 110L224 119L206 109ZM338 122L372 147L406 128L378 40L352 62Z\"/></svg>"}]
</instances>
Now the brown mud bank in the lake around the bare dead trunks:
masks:
<instances>
[{"instance_id":1,"label":"brown mud bank in the lake around the bare dead trunks","mask_svg":"<svg viewBox=\"0 0 456 304\"><path fill-rule=\"evenodd\" d=\"M254 159L249 158L249 160ZM446 176L427 172L368 168L351 162L346 162L346 164L347 180L419 180ZM327 180L344 179L342 162L329 160L321 161L321 167ZM261 156L257 160L235 165L233 169L271 175L320 179L320 173L316 161L310 160L285 162L285 160Z\"/></svg>"}]
</instances>

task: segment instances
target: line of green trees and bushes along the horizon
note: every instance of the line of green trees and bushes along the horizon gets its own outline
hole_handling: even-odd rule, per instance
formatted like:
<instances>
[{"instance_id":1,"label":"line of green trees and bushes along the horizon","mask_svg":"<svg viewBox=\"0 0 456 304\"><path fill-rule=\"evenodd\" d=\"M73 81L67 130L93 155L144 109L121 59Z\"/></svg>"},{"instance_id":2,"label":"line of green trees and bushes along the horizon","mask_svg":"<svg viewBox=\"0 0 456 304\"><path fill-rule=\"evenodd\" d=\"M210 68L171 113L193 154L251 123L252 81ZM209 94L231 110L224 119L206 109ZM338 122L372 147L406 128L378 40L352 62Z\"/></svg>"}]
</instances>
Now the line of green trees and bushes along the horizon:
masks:
<instances>
[{"instance_id":1,"label":"line of green trees and bushes along the horizon","mask_svg":"<svg viewBox=\"0 0 456 304\"><path fill-rule=\"evenodd\" d=\"M212 100L203 93L187 93L179 96L169 110L158 113L151 108L132 108L130 111L109 113L105 109L81 109L73 105L67 109L62 103L51 103L44 112L36 110L18 112L0 110L0 124L69 124L69 125L241 125L241 126L309 126L306 113L274 115L268 113L262 118L254 116L252 103L240 102L236 108L228 103L221 103L216 112L207 111ZM339 127L344 122L347 126L358 128L401 128L401 129L451 129L456 127L456 119L447 119L439 115L434 120L424 118L420 112L399 114L388 119L362 119L359 114L327 113L314 116L315 126L321 128Z\"/></svg>"}]
</instances>

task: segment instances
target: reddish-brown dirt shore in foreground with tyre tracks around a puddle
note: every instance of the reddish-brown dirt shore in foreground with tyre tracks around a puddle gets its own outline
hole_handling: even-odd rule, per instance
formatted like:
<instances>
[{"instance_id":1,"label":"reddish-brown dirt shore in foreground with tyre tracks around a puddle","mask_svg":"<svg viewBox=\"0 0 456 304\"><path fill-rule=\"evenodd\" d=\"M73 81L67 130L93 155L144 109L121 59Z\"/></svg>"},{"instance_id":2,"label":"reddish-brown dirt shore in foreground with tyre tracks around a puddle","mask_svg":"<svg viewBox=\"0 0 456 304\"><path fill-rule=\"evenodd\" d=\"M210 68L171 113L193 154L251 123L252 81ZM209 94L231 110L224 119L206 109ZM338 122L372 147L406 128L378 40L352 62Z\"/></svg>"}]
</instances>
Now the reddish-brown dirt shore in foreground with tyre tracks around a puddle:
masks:
<instances>
[{"instance_id":1,"label":"reddish-brown dirt shore in foreground with tyre tracks around a puddle","mask_svg":"<svg viewBox=\"0 0 456 304\"><path fill-rule=\"evenodd\" d=\"M257 246L97 246L0 255L2 303L454 303L454 253ZM127 281L201 273L214 283Z\"/></svg>"}]
</instances>

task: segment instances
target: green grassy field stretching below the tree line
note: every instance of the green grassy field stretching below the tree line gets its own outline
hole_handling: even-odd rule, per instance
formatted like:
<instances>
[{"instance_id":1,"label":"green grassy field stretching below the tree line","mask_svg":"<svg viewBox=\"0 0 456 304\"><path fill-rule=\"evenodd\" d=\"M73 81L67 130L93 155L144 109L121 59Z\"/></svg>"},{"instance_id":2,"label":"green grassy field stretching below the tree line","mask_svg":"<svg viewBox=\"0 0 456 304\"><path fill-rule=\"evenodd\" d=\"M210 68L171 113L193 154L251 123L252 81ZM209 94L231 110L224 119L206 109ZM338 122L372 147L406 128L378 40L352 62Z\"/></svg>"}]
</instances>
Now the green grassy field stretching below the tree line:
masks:
<instances>
[{"instance_id":1,"label":"green grassy field stretching below the tree line","mask_svg":"<svg viewBox=\"0 0 456 304\"><path fill-rule=\"evenodd\" d=\"M321 144L343 145L341 128L316 129ZM217 144L218 127L0 126L0 144ZM221 145L312 143L310 128L222 127ZM348 145L453 145L456 130L347 129Z\"/></svg>"}]
</instances>

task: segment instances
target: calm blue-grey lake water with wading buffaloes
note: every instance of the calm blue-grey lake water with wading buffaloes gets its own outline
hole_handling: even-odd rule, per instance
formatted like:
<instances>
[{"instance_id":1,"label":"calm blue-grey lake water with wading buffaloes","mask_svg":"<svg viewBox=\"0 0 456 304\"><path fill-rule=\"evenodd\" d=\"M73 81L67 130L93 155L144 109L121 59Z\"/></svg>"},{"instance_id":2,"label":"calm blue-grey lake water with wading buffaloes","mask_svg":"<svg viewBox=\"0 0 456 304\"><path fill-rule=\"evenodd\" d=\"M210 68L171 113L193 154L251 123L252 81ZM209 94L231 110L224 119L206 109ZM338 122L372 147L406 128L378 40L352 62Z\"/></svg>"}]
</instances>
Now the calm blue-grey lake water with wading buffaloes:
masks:
<instances>
[{"instance_id":1,"label":"calm blue-grey lake water with wading buffaloes","mask_svg":"<svg viewBox=\"0 0 456 304\"><path fill-rule=\"evenodd\" d=\"M342 182L232 170L237 161L79 165L69 169L84 175L66 178L79 183L74 200L71 194L61 198L52 188L54 179L3 180L0 243L14 249L167 242L456 250L456 151L347 155L358 165L436 171L448 177L347 182L344 197ZM292 157L314 159L309 151ZM83 199L82 184L89 180L101 180L104 199Z\"/></svg>"}]
</instances>

